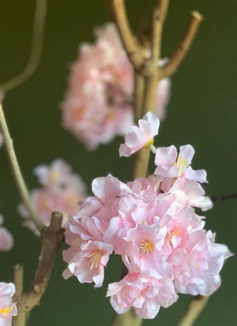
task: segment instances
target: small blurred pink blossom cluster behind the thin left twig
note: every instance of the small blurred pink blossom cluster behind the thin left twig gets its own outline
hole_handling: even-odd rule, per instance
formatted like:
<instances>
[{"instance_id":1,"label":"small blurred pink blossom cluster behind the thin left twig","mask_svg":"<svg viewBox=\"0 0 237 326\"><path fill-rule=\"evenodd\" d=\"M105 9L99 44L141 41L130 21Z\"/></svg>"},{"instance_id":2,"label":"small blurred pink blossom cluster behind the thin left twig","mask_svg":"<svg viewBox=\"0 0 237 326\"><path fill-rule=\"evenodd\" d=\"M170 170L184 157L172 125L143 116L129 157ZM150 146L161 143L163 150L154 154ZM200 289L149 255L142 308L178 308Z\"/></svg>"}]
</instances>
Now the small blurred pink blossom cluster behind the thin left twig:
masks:
<instances>
[{"instance_id":1,"label":"small blurred pink blossom cluster behind the thin left twig","mask_svg":"<svg viewBox=\"0 0 237 326\"><path fill-rule=\"evenodd\" d=\"M30 199L39 218L45 226L49 226L51 213L59 211L63 214L64 226L68 214L76 214L79 210L78 204L84 201L85 184L79 175L72 173L71 167L62 159L55 159L50 166L37 166L34 174L42 187L33 189ZM23 224L35 235L39 235L23 203L19 204L18 212L25 219Z\"/></svg>"}]
</instances>

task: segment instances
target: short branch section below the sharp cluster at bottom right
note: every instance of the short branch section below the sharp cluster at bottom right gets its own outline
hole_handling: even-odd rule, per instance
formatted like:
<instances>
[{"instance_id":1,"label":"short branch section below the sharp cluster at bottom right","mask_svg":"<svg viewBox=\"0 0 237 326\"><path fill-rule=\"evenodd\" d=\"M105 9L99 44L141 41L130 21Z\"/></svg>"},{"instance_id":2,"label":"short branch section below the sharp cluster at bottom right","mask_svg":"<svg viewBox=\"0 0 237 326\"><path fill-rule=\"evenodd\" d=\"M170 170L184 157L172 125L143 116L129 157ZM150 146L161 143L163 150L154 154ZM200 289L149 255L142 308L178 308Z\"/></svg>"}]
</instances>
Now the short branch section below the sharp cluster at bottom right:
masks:
<instances>
[{"instance_id":1,"label":"short branch section below the sharp cluster at bottom right","mask_svg":"<svg viewBox=\"0 0 237 326\"><path fill-rule=\"evenodd\" d=\"M208 296L196 295L187 306L186 311L177 323L177 326L192 326L208 301Z\"/></svg>"}]
</instances>

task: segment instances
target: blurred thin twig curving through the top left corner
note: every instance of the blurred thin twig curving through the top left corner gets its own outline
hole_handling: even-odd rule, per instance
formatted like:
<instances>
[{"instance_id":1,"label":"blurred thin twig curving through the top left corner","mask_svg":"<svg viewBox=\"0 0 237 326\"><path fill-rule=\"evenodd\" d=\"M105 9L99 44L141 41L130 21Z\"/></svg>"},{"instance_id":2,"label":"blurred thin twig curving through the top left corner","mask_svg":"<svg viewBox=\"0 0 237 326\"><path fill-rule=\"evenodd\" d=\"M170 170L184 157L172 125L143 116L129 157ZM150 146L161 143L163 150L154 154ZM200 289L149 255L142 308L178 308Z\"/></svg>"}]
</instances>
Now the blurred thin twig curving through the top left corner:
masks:
<instances>
[{"instance_id":1,"label":"blurred thin twig curving through the top left corner","mask_svg":"<svg viewBox=\"0 0 237 326\"><path fill-rule=\"evenodd\" d=\"M25 82L37 69L39 64L42 45L44 23L47 10L47 0L36 0L34 22L32 31L32 43L27 65L19 75L0 85L0 91L6 92Z\"/></svg>"}]
</instances>

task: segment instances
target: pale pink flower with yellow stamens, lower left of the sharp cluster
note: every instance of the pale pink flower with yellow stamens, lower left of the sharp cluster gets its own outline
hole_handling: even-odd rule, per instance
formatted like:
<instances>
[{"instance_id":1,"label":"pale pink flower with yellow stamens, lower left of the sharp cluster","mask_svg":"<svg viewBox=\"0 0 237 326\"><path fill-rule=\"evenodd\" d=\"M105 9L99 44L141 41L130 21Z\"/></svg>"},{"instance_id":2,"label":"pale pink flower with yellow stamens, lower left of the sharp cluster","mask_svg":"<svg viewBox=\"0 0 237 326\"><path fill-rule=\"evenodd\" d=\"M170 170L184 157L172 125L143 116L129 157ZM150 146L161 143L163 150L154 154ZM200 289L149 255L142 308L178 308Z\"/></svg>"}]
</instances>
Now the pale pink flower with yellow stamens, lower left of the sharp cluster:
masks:
<instances>
[{"instance_id":1,"label":"pale pink flower with yellow stamens, lower left of the sharp cluster","mask_svg":"<svg viewBox=\"0 0 237 326\"><path fill-rule=\"evenodd\" d=\"M83 243L80 251L69 261L68 271L74 274L81 283L95 283L95 287L102 285L104 267L112 253L112 246L101 241ZM64 277L69 276L65 272Z\"/></svg>"}]
</instances>

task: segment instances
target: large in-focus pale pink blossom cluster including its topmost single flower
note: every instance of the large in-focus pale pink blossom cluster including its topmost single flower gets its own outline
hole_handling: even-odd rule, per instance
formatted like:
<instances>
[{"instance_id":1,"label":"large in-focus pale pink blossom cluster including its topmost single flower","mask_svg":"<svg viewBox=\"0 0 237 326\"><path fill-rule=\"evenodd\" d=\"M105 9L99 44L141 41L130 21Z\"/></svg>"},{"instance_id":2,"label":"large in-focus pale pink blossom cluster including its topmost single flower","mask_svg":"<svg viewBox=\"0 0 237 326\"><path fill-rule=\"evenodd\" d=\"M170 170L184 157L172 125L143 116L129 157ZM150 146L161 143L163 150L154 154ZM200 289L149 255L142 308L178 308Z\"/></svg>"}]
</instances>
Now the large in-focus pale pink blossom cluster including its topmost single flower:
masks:
<instances>
[{"instance_id":1,"label":"large in-focus pale pink blossom cluster including its topmost single flower","mask_svg":"<svg viewBox=\"0 0 237 326\"><path fill-rule=\"evenodd\" d=\"M205 171L190 166L192 146L181 146L179 153L174 146L156 149L157 117L147 113L138 124L125 135L120 155L149 147L156 169L128 183L111 175L93 180L94 196L66 226L63 276L101 286L114 252L128 273L108 285L111 305L117 313L134 307L140 318L153 318L160 306L177 300L177 293L210 295L231 253L215 243L215 234L204 229L204 217L195 213L195 207L205 211L212 203L200 185L206 182Z\"/></svg>"}]
</instances>

